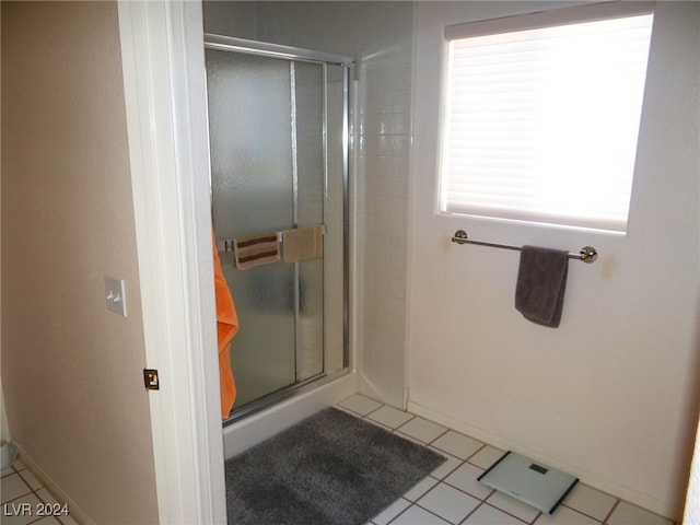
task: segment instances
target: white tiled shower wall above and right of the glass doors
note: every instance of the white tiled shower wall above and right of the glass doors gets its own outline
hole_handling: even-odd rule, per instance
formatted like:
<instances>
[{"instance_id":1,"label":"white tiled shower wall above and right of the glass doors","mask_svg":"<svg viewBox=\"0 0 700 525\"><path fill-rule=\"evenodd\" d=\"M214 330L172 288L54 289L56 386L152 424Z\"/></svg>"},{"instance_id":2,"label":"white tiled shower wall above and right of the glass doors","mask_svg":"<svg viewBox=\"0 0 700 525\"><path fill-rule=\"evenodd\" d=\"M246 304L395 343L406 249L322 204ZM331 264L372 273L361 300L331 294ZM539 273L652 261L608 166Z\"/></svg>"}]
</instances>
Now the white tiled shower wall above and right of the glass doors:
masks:
<instances>
[{"instance_id":1,"label":"white tiled shower wall above and right of the glass doors","mask_svg":"<svg viewBox=\"0 0 700 525\"><path fill-rule=\"evenodd\" d=\"M402 407L413 4L205 2L205 31L357 58L355 364L362 393Z\"/></svg>"}]
</instances>

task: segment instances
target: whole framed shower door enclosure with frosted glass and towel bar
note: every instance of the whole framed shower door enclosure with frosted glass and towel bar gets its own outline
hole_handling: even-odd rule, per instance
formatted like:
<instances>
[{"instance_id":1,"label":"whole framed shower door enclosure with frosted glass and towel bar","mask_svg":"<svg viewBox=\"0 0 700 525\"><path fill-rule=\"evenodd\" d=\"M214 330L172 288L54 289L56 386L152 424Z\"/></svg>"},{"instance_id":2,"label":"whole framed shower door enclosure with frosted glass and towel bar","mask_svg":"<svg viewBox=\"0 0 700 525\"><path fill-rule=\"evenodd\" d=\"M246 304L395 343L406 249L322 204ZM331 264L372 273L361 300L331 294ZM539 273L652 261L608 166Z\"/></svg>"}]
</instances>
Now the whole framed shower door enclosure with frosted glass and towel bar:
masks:
<instances>
[{"instance_id":1,"label":"whole framed shower door enclosure with frosted glass and towel bar","mask_svg":"<svg viewBox=\"0 0 700 525\"><path fill-rule=\"evenodd\" d=\"M211 34L205 55L213 225L240 322L228 424L348 371L352 60ZM312 231L319 248L291 245ZM269 243L254 264L244 240Z\"/></svg>"}]
</instances>

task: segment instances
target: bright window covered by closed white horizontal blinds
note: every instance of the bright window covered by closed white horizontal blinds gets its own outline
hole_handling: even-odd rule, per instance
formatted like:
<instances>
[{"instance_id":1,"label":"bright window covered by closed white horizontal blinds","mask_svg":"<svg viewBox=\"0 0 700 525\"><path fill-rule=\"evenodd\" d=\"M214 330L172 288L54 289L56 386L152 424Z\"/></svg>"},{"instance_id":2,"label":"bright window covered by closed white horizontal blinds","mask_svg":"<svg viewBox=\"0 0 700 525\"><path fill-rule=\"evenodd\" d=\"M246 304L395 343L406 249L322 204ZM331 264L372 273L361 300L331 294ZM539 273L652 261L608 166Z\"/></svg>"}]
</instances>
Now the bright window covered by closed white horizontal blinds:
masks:
<instances>
[{"instance_id":1,"label":"bright window covered by closed white horizontal blinds","mask_svg":"<svg viewBox=\"0 0 700 525\"><path fill-rule=\"evenodd\" d=\"M441 211L625 232L650 9L447 27Z\"/></svg>"}]
</instances>

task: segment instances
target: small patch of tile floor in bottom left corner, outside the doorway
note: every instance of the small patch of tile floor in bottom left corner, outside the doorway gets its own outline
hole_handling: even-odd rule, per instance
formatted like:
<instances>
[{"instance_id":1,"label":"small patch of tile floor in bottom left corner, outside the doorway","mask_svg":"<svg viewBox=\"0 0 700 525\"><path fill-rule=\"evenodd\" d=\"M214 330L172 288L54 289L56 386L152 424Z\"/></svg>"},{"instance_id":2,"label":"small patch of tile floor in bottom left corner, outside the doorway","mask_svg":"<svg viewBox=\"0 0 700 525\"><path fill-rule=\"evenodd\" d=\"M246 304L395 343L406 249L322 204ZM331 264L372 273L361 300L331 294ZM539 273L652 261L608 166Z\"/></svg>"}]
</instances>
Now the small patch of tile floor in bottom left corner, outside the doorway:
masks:
<instances>
[{"instance_id":1,"label":"small patch of tile floor in bottom left corner, outside the doorway","mask_svg":"<svg viewBox=\"0 0 700 525\"><path fill-rule=\"evenodd\" d=\"M58 503L20 459L2 474L0 494L2 525L78 525L70 509Z\"/></svg>"}]
</instances>

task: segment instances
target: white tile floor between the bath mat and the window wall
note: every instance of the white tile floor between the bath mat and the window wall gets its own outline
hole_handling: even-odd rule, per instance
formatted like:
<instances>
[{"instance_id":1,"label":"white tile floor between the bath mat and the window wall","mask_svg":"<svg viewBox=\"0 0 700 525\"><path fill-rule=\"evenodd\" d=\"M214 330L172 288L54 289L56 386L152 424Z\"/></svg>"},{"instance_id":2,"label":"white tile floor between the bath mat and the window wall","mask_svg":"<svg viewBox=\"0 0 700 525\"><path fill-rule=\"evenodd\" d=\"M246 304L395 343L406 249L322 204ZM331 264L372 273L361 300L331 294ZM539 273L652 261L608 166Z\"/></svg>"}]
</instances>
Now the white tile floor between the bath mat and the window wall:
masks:
<instances>
[{"instance_id":1,"label":"white tile floor between the bath mat and the window wall","mask_svg":"<svg viewBox=\"0 0 700 525\"><path fill-rule=\"evenodd\" d=\"M341 401L338 407L447 457L446 463L368 525L673 524L583 483L578 483L561 506L548 516L477 481L504 451L361 395Z\"/></svg>"}]
</instances>

